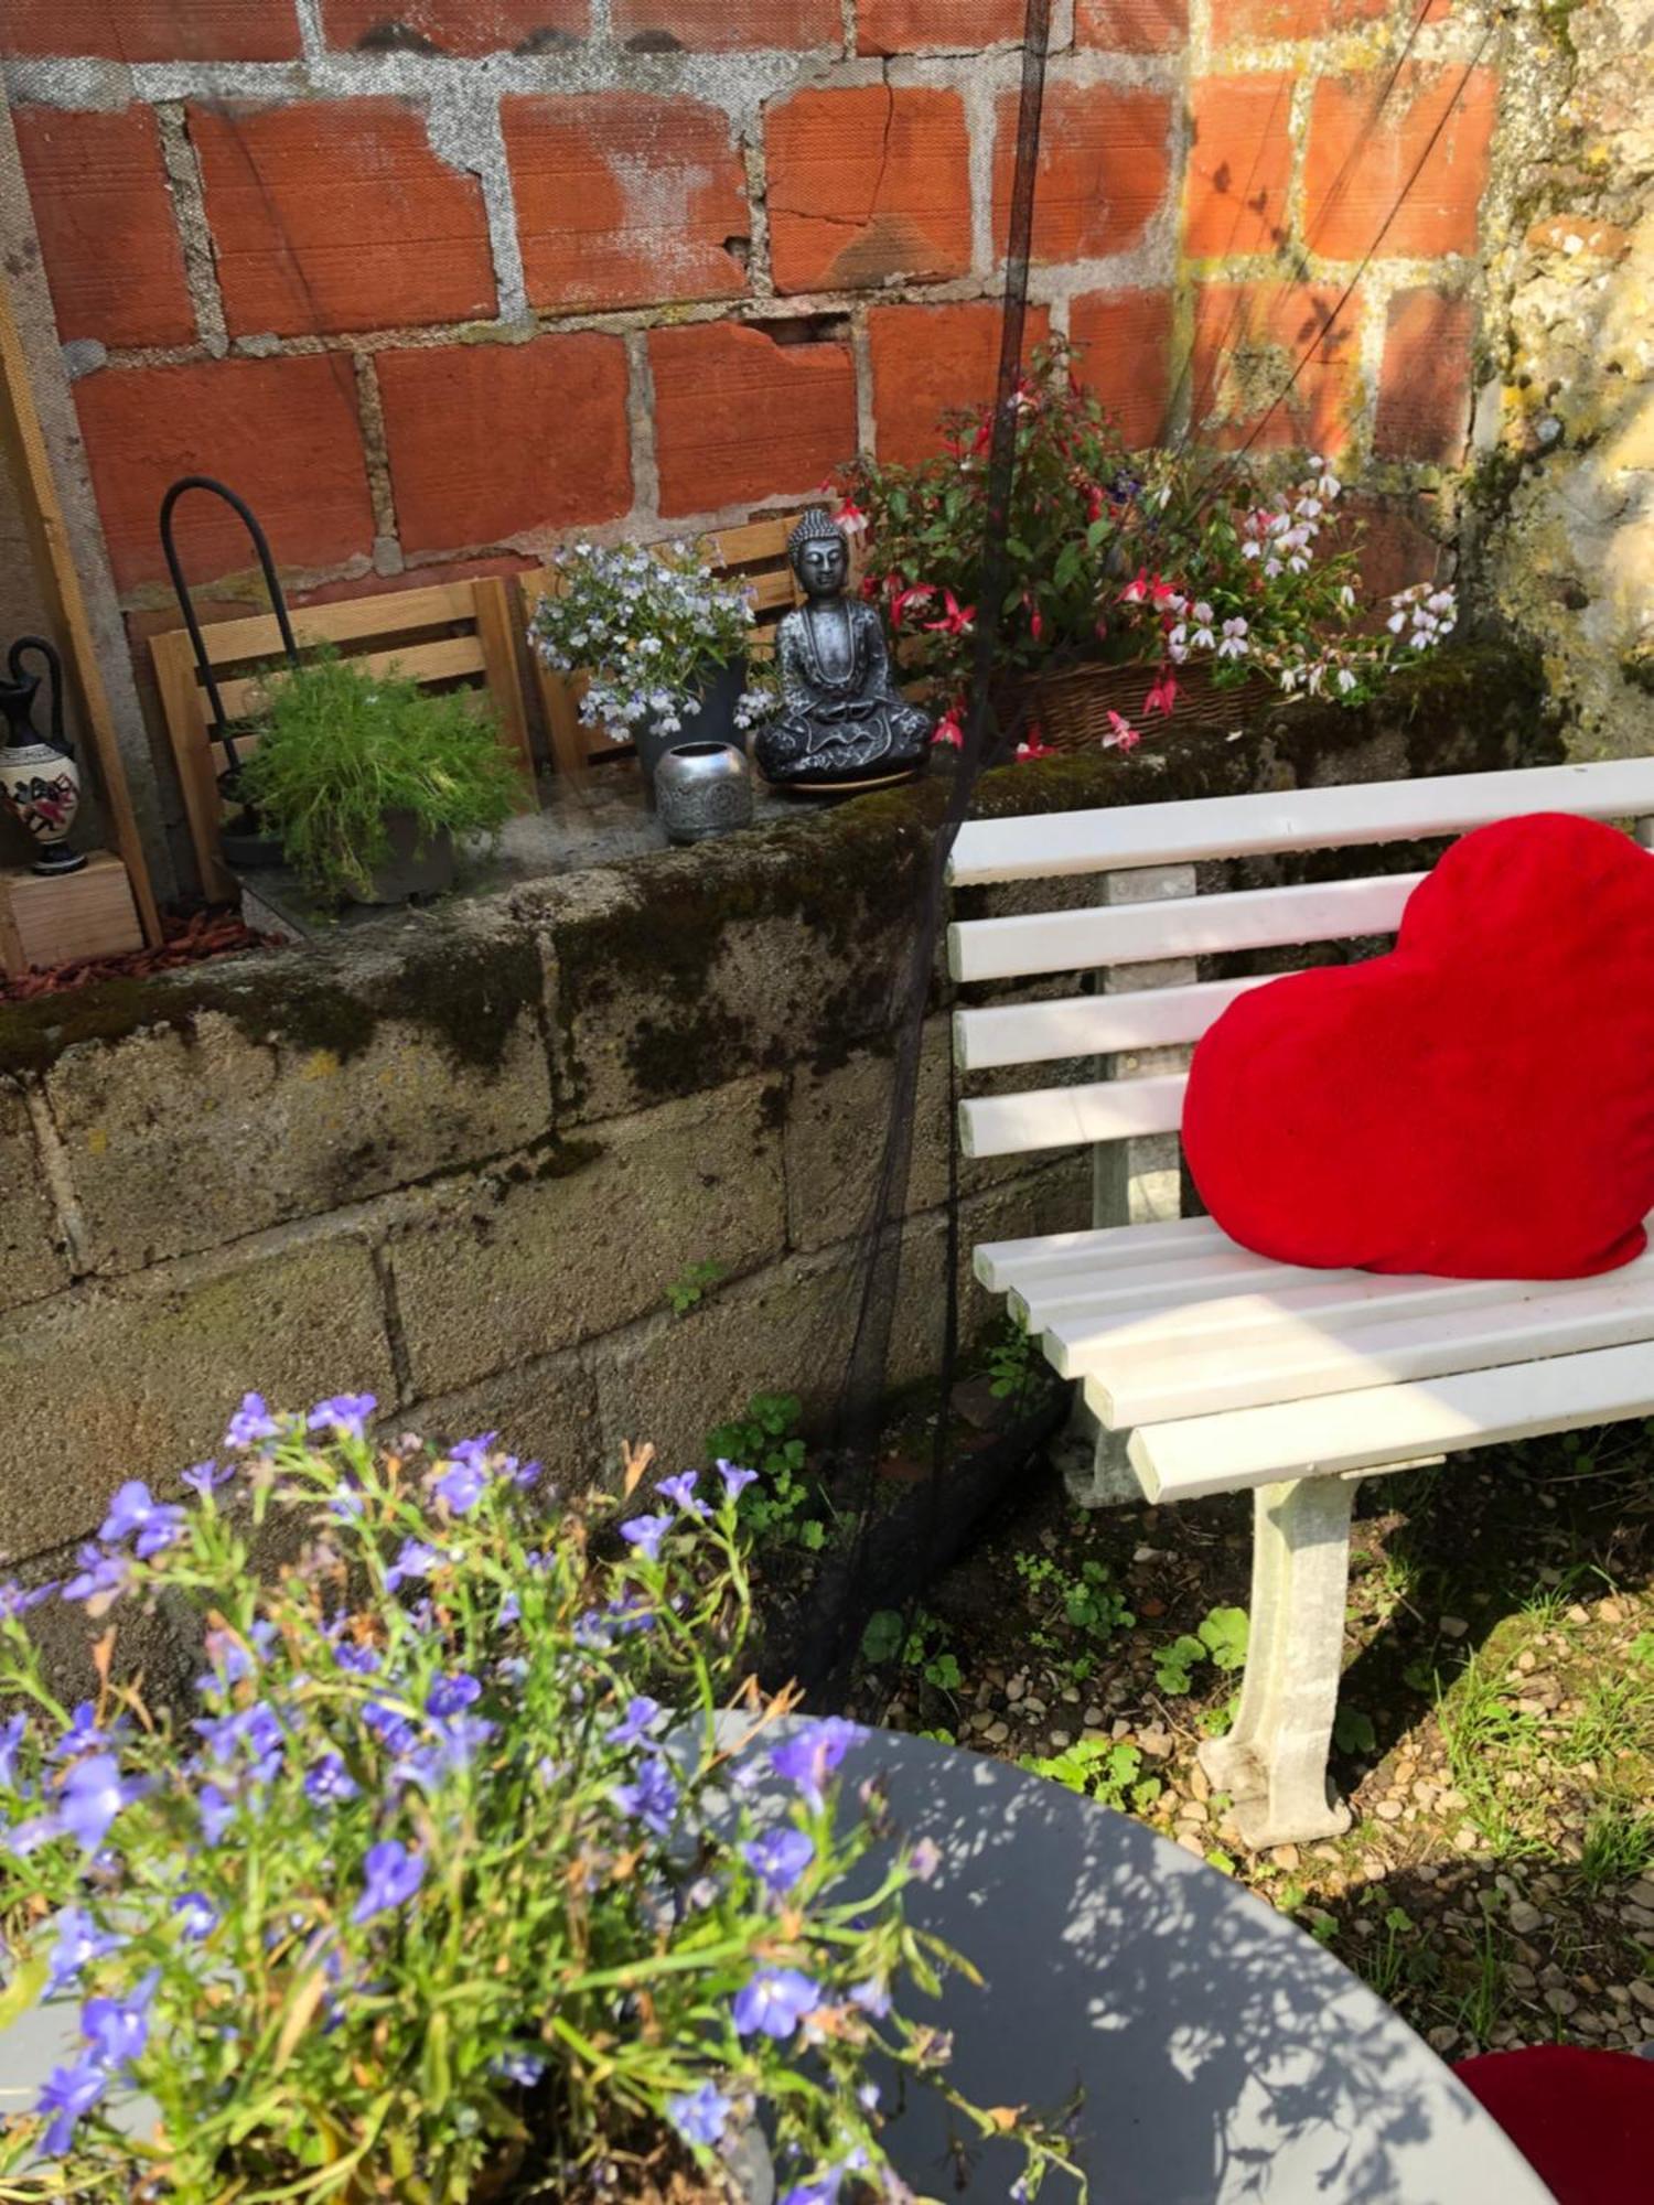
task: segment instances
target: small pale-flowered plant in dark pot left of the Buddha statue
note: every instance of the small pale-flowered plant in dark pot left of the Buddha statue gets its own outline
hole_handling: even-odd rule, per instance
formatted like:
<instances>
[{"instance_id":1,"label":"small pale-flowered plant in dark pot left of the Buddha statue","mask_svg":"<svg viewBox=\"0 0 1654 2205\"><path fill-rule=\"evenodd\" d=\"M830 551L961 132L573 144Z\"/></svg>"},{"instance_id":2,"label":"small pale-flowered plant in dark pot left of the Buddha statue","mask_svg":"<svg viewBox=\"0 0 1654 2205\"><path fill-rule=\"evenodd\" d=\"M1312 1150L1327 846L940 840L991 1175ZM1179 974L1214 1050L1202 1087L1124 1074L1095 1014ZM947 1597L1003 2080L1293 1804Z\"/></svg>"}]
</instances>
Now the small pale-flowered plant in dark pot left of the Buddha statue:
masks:
<instances>
[{"instance_id":1,"label":"small pale-flowered plant in dark pot left of the Buddha statue","mask_svg":"<svg viewBox=\"0 0 1654 2205\"><path fill-rule=\"evenodd\" d=\"M556 587L529 622L534 648L560 675L584 673L580 719L615 743L655 723L681 734L699 688L732 666L752 633L752 593L719 576L695 545L573 545L551 553Z\"/></svg>"}]
</instances>

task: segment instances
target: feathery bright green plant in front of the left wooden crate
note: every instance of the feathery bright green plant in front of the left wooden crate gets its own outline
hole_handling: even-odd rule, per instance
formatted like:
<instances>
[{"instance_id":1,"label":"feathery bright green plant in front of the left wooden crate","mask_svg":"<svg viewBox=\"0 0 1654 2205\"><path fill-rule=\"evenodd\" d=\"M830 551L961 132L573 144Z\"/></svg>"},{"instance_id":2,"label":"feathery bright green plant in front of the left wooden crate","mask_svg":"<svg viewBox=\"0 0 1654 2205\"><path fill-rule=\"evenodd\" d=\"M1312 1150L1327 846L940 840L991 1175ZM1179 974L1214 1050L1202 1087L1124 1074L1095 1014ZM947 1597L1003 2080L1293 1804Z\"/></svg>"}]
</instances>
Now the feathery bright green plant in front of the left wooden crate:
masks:
<instances>
[{"instance_id":1,"label":"feathery bright green plant in front of the left wooden crate","mask_svg":"<svg viewBox=\"0 0 1654 2205\"><path fill-rule=\"evenodd\" d=\"M335 650L269 677L240 794L311 889L368 895L390 845L386 814L432 836L498 833L518 774L494 719L463 692L432 695Z\"/></svg>"}]
</instances>

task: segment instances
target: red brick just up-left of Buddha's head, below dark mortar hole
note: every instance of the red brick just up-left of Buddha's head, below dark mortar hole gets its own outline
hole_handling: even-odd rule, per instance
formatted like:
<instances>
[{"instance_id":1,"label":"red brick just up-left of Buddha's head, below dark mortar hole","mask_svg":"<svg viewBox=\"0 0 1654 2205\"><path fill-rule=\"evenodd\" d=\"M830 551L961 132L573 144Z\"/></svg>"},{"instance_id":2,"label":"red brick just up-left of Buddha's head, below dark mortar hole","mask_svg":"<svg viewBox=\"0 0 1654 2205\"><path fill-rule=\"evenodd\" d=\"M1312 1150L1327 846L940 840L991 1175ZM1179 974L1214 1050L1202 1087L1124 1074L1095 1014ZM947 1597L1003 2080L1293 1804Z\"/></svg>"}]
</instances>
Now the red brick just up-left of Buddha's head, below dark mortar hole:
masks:
<instances>
[{"instance_id":1,"label":"red brick just up-left of Buddha's head, below dark mortar hole","mask_svg":"<svg viewBox=\"0 0 1654 2205\"><path fill-rule=\"evenodd\" d=\"M856 450L847 344L776 344L761 329L655 329L662 512L704 514L798 496Z\"/></svg>"}]
</instances>

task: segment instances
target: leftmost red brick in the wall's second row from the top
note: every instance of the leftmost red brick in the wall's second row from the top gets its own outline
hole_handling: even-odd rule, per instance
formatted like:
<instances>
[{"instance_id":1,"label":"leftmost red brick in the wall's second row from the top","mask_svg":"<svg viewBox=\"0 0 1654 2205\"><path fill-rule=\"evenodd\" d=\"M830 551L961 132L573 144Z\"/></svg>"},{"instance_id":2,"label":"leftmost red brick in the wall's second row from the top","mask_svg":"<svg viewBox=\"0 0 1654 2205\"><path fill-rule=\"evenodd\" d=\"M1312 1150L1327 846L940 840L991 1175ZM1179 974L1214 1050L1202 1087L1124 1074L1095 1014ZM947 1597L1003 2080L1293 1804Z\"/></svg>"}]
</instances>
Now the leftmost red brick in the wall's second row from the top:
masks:
<instances>
[{"instance_id":1,"label":"leftmost red brick in the wall's second row from the top","mask_svg":"<svg viewBox=\"0 0 1654 2205\"><path fill-rule=\"evenodd\" d=\"M13 108L57 335L194 344L154 108Z\"/></svg>"}]
</instances>

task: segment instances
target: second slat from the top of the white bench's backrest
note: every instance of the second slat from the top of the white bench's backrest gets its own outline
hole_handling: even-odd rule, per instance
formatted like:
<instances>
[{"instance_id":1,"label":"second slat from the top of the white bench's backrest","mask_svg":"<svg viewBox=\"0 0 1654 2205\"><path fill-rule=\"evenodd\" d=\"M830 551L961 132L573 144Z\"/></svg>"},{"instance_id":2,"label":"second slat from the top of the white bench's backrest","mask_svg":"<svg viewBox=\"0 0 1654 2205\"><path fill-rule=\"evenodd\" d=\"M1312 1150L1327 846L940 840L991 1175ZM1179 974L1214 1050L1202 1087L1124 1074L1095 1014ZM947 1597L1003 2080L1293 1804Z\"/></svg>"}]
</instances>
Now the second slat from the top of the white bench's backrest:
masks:
<instances>
[{"instance_id":1,"label":"second slat from the top of the white bench's backrest","mask_svg":"<svg viewBox=\"0 0 1654 2205\"><path fill-rule=\"evenodd\" d=\"M1191 895L1167 904L1037 911L1014 919L964 919L948 928L948 970L959 981L1030 979L1092 966L1151 964L1299 942L1389 935L1425 873L1334 880L1310 889Z\"/></svg>"}]
</instances>

